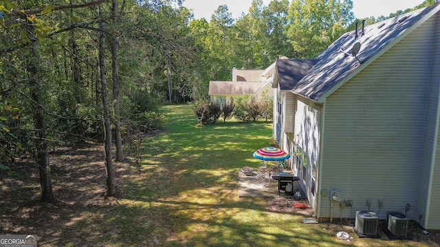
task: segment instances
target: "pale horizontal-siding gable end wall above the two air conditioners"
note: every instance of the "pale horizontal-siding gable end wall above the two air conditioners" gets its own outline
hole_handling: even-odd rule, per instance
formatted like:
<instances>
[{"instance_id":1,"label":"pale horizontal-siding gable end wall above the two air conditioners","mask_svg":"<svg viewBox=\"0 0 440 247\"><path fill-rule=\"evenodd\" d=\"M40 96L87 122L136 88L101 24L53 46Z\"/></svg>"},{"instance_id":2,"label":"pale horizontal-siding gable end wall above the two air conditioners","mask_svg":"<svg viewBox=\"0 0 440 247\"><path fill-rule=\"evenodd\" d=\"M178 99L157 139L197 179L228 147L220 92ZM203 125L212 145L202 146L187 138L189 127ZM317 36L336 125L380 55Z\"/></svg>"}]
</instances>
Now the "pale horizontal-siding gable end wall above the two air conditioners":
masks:
<instances>
[{"instance_id":1,"label":"pale horizontal-siding gable end wall above the two air conditioners","mask_svg":"<svg viewBox=\"0 0 440 247\"><path fill-rule=\"evenodd\" d=\"M370 200L381 219L386 211L405 213L406 204L415 218L433 24L423 23L325 102L318 179L323 191L338 188L353 200L342 217L368 209ZM329 217L328 196L320 205L318 216Z\"/></svg>"}]
</instances>

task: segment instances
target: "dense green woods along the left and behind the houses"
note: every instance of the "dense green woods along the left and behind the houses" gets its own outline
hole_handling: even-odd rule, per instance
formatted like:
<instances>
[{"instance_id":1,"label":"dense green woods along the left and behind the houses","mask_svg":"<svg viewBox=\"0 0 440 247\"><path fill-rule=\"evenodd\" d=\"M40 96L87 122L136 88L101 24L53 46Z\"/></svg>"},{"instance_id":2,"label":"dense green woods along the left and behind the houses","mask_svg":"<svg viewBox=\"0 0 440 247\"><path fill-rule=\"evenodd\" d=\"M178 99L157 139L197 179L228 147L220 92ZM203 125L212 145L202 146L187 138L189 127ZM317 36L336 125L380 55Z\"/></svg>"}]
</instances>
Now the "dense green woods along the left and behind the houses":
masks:
<instances>
[{"instance_id":1,"label":"dense green woods along the left and behind the houses","mask_svg":"<svg viewBox=\"0 0 440 247\"><path fill-rule=\"evenodd\" d=\"M50 202L50 148L103 141L114 196L111 145L124 160L123 135L157 127L159 104L208 99L209 81L231 80L234 64L313 58L353 30L352 8L351 0L253 0L237 20L226 5L194 20L181 0L0 0L0 172L30 156Z\"/></svg>"}]
</instances>

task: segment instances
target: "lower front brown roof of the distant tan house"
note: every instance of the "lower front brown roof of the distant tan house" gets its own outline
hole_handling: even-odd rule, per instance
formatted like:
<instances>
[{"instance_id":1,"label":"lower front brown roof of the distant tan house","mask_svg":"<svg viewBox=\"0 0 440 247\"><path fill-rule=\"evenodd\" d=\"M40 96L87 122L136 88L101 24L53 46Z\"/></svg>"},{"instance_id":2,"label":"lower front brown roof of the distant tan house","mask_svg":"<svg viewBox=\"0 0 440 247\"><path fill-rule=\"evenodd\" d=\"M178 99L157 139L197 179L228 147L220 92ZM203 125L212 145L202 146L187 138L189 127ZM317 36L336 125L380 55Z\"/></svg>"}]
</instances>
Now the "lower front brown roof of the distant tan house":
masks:
<instances>
[{"instance_id":1,"label":"lower front brown roof of the distant tan house","mask_svg":"<svg viewBox=\"0 0 440 247\"><path fill-rule=\"evenodd\" d=\"M208 95L250 95L256 94L265 82L210 81Z\"/></svg>"}]
</instances>

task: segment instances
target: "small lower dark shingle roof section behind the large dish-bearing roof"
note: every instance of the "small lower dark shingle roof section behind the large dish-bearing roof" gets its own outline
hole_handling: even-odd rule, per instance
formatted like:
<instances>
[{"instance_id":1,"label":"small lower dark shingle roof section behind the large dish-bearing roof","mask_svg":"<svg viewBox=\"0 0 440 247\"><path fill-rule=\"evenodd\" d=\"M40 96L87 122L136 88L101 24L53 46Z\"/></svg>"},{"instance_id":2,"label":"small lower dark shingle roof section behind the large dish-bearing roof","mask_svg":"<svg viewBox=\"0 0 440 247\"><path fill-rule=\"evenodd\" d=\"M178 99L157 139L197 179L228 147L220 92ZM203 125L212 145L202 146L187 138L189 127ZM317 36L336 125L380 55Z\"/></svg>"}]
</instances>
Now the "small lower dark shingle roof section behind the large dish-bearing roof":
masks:
<instances>
[{"instance_id":1,"label":"small lower dark shingle roof section behind the large dish-bearing roof","mask_svg":"<svg viewBox=\"0 0 440 247\"><path fill-rule=\"evenodd\" d=\"M317 62L316 59L276 60L276 74L272 87L276 88L279 84L280 90L293 89Z\"/></svg>"}]
</instances>

